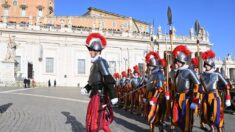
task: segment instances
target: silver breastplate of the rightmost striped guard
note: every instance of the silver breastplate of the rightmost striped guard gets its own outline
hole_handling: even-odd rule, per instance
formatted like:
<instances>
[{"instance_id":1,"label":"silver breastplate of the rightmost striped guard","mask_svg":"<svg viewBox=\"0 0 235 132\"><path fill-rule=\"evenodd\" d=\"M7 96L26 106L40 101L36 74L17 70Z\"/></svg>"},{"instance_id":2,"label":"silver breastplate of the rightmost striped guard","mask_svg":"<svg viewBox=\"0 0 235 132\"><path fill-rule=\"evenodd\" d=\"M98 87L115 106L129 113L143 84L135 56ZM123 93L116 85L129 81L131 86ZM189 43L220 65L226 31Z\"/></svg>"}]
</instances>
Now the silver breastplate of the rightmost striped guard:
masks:
<instances>
[{"instance_id":1,"label":"silver breastplate of the rightmost striped guard","mask_svg":"<svg viewBox=\"0 0 235 132\"><path fill-rule=\"evenodd\" d=\"M204 73L202 74L201 79L207 92L216 90L219 81L216 73Z\"/></svg>"}]
</instances>

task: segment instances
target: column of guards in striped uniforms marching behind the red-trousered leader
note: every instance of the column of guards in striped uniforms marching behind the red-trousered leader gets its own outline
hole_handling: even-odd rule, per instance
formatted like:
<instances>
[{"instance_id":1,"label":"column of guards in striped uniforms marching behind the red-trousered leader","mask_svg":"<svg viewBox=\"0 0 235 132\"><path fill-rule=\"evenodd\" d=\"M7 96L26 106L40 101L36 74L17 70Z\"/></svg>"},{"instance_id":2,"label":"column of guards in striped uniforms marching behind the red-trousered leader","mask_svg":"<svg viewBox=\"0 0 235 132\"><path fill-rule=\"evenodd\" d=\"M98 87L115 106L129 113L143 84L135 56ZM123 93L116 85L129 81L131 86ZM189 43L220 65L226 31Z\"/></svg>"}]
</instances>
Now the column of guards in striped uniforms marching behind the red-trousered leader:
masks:
<instances>
[{"instance_id":1,"label":"column of guards in striped uniforms marching behind the red-trousered leader","mask_svg":"<svg viewBox=\"0 0 235 132\"><path fill-rule=\"evenodd\" d=\"M118 107L148 119L150 131L157 126L163 131L164 122L171 128L192 131L194 116L199 116L201 129L222 131L224 106L231 105L231 82L215 71L215 53L203 52L201 60L190 58L187 46L179 45L172 52L173 64L167 73L168 63L157 52L146 55L144 74L138 66L114 73ZM203 71L200 73L200 61ZM222 98L224 97L224 98Z\"/></svg>"}]
</instances>

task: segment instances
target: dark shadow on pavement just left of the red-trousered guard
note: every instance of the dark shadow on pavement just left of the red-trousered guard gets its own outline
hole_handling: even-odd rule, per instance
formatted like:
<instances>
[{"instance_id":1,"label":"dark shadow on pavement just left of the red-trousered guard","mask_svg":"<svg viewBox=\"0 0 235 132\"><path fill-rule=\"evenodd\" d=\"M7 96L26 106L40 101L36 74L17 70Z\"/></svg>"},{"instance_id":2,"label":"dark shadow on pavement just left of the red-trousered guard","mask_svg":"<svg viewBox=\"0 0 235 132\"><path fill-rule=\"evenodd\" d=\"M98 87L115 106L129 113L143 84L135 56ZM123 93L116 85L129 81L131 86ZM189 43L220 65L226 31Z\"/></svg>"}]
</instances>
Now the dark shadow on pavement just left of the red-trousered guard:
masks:
<instances>
[{"instance_id":1,"label":"dark shadow on pavement just left of the red-trousered guard","mask_svg":"<svg viewBox=\"0 0 235 132\"><path fill-rule=\"evenodd\" d=\"M85 127L77 121L75 116L70 115L70 112L61 112L64 116L67 117L67 121L65 124L71 124L72 126L72 132L85 132Z\"/></svg>"}]
</instances>

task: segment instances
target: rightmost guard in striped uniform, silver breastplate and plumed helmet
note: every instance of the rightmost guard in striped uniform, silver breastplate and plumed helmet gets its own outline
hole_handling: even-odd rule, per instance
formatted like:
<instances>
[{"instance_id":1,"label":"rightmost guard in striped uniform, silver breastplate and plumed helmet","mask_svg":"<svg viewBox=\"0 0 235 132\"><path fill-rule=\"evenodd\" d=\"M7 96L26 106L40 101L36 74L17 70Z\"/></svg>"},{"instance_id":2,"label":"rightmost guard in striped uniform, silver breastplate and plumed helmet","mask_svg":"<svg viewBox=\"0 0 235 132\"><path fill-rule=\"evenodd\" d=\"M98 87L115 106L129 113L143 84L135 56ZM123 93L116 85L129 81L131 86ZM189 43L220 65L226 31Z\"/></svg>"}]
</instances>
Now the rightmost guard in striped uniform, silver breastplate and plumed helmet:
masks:
<instances>
[{"instance_id":1,"label":"rightmost guard in striped uniform, silver breastplate and plumed helmet","mask_svg":"<svg viewBox=\"0 0 235 132\"><path fill-rule=\"evenodd\" d=\"M211 127L214 132L215 127L218 131L222 131L224 125L224 102L221 100L218 90L224 90L226 95L225 105L231 105L230 87L224 77L215 72L215 53L212 50L202 53L204 60L205 72L201 76L201 81L205 89L202 100L202 115L203 122Z\"/></svg>"}]
</instances>

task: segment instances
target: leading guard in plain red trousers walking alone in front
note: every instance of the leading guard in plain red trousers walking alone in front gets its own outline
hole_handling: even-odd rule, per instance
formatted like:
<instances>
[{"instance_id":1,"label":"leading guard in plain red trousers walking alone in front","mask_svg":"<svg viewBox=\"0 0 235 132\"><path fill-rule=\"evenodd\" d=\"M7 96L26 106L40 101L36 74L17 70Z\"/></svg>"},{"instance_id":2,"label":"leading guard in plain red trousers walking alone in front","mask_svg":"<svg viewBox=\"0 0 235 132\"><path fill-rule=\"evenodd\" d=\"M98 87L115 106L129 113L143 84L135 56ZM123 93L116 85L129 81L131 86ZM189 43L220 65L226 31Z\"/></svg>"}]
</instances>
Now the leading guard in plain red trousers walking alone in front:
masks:
<instances>
[{"instance_id":1,"label":"leading guard in plain red trousers walking alone in front","mask_svg":"<svg viewBox=\"0 0 235 132\"><path fill-rule=\"evenodd\" d=\"M105 46L106 39L99 33L92 33L86 39L92 62L88 84L81 89L81 94L89 93L91 98L86 115L87 132L110 132L109 124L113 121L110 100L112 104L118 102L114 89L115 80L108 70L107 61L100 56Z\"/></svg>"}]
</instances>

